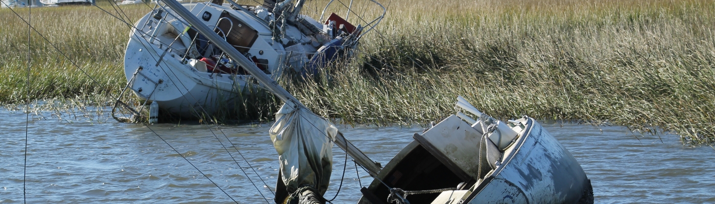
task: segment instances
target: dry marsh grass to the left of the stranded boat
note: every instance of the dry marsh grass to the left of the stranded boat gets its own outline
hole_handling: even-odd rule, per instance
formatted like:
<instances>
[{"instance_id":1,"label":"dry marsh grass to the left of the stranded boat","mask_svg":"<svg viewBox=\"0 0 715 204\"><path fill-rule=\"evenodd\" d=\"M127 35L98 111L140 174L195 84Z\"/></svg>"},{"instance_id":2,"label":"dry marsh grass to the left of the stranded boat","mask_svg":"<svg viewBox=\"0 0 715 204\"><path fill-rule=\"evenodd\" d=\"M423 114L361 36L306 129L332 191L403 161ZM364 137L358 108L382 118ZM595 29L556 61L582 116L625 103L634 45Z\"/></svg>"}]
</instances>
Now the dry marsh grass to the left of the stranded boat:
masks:
<instances>
[{"instance_id":1,"label":"dry marsh grass to the left of the stranded boat","mask_svg":"<svg viewBox=\"0 0 715 204\"><path fill-rule=\"evenodd\" d=\"M114 11L109 4L100 5ZM134 21L149 11L146 6L123 8ZM29 20L29 9L15 11ZM129 29L121 21L94 6L36 8L31 12L32 26L59 50L33 31L30 100L111 95L126 83L122 73ZM0 19L0 75L7 76L0 79L0 103L25 101L28 26L10 9L0 9Z\"/></svg>"}]
</instances>

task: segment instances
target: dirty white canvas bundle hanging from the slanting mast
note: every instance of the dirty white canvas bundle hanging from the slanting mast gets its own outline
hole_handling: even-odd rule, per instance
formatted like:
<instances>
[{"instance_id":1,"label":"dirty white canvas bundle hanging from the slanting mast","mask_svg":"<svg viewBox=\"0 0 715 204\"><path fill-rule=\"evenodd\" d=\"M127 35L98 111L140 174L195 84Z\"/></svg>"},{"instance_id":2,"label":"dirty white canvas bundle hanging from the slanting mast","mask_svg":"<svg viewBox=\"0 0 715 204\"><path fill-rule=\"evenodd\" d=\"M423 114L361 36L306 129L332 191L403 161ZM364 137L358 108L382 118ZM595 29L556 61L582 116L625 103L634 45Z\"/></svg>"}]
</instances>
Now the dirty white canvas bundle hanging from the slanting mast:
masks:
<instances>
[{"instance_id":1,"label":"dirty white canvas bundle hanging from the slanting mast","mask_svg":"<svg viewBox=\"0 0 715 204\"><path fill-rule=\"evenodd\" d=\"M323 195L332 173L332 141L337 128L305 108L286 103L270 129L280 173L288 192L310 185Z\"/></svg>"}]
</instances>

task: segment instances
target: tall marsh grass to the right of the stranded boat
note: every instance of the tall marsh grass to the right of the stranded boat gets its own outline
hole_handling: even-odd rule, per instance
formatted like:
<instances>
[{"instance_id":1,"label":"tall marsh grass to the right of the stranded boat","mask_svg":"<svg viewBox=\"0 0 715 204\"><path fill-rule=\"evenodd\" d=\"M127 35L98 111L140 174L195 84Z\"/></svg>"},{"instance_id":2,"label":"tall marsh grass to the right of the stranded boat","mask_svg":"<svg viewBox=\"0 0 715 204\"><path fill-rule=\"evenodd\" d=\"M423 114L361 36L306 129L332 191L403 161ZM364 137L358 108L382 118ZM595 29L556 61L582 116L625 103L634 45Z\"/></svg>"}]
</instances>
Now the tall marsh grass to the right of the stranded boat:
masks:
<instances>
[{"instance_id":1,"label":"tall marsh grass to the right of the stranded boat","mask_svg":"<svg viewBox=\"0 0 715 204\"><path fill-rule=\"evenodd\" d=\"M586 121L711 143L711 1L392 1L360 61L294 88L354 123L425 123L455 96L501 118Z\"/></svg>"}]
</instances>

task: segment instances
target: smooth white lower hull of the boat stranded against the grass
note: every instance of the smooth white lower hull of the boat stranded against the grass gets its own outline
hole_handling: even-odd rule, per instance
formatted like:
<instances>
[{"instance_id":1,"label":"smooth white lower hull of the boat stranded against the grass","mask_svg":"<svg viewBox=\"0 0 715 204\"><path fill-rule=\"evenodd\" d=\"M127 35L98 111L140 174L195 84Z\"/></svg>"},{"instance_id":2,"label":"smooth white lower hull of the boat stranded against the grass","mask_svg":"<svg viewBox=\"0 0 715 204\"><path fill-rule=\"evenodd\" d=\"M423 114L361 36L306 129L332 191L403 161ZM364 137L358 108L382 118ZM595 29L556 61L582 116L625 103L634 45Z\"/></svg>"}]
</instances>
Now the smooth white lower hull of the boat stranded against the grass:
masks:
<instances>
[{"instance_id":1,"label":"smooth white lower hull of the boat stranded against the grass","mask_svg":"<svg viewBox=\"0 0 715 204\"><path fill-rule=\"evenodd\" d=\"M157 101L162 110L183 118L213 114L239 96L249 76L202 73L165 55L143 38L132 36L124 54L124 71L134 94ZM246 79L246 80L241 80Z\"/></svg>"}]
</instances>

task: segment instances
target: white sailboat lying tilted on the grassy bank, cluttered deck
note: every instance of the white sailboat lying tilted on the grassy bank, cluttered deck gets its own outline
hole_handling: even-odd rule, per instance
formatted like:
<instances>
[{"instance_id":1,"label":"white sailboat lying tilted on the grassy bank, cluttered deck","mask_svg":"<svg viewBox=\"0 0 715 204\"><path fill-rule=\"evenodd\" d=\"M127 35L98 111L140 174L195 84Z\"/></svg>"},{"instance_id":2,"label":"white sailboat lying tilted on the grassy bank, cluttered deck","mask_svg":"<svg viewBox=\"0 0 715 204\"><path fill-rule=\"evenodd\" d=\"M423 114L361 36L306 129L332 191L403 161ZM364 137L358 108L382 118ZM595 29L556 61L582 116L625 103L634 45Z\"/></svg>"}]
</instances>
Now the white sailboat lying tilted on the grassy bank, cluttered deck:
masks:
<instances>
[{"instance_id":1,"label":"white sailboat lying tilted on the grassy bank, cluttered deck","mask_svg":"<svg viewBox=\"0 0 715 204\"><path fill-rule=\"evenodd\" d=\"M322 24L300 14L305 0L265 0L261 6L228 1L184 7L274 80L289 68L310 76L326 63L350 57L360 37L382 19L353 26L331 14ZM255 89L257 81L235 58L188 25L162 4L137 21L124 53L127 88L182 117L210 115Z\"/></svg>"}]
</instances>

